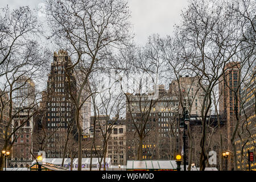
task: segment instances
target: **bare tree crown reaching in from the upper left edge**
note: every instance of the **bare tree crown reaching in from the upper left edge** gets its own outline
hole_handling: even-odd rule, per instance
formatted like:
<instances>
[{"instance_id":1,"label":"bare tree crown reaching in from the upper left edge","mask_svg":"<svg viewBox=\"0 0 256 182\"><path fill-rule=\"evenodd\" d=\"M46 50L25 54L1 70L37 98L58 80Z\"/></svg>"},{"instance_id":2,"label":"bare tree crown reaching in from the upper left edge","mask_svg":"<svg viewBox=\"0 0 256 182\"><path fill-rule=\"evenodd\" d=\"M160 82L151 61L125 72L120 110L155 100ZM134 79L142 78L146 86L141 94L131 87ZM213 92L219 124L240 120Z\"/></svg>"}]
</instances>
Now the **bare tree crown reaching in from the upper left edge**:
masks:
<instances>
[{"instance_id":1,"label":"bare tree crown reaching in from the upper left edge","mask_svg":"<svg viewBox=\"0 0 256 182\"><path fill-rule=\"evenodd\" d=\"M21 53L23 47L34 42L33 36L39 32L39 24L35 14L27 6L19 7L13 11L7 6L1 8L1 11L0 68L3 71L2 64L7 59L14 53Z\"/></svg>"}]
</instances>

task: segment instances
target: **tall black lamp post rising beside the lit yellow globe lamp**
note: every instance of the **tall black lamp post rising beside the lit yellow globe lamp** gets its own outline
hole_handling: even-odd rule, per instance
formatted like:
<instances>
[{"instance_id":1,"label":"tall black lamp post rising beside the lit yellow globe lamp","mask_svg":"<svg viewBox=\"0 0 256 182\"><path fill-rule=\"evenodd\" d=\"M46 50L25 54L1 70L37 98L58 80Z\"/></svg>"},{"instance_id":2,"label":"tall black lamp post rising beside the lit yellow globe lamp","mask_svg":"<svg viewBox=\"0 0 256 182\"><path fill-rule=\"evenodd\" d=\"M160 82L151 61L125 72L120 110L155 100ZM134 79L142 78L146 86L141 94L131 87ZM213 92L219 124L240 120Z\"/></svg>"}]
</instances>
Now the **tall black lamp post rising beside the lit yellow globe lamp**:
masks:
<instances>
[{"instance_id":1,"label":"tall black lamp post rising beside the lit yellow globe lamp","mask_svg":"<svg viewBox=\"0 0 256 182\"><path fill-rule=\"evenodd\" d=\"M180 131L183 131L183 166L184 171L186 171L186 135L185 135L185 129L187 129L187 126L189 124L189 116L188 111L185 110L185 107L183 108L183 118L181 118L180 122Z\"/></svg>"}]
</instances>

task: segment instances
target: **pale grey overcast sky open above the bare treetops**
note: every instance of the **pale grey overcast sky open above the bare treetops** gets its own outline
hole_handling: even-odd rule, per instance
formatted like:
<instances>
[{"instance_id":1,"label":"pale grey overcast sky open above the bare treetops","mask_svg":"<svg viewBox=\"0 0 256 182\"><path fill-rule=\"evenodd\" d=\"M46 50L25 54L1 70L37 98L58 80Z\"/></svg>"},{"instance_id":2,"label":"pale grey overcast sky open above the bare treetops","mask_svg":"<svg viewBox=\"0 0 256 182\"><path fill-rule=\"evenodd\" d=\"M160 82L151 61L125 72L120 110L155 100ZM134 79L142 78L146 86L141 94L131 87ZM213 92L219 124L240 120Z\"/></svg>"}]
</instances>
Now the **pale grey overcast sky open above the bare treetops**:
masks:
<instances>
[{"instance_id":1,"label":"pale grey overcast sky open above the bare treetops","mask_svg":"<svg viewBox=\"0 0 256 182\"><path fill-rule=\"evenodd\" d=\"M1 0L1 7L10 9L30 6L31 9L42 6L44 0ZM181 10L188 5L187 0L128 0L131 10L131 23L134 25L135 42L146 43L151 34L171 35L174 24L179 23Z\"/></svg>"}]
</instances>

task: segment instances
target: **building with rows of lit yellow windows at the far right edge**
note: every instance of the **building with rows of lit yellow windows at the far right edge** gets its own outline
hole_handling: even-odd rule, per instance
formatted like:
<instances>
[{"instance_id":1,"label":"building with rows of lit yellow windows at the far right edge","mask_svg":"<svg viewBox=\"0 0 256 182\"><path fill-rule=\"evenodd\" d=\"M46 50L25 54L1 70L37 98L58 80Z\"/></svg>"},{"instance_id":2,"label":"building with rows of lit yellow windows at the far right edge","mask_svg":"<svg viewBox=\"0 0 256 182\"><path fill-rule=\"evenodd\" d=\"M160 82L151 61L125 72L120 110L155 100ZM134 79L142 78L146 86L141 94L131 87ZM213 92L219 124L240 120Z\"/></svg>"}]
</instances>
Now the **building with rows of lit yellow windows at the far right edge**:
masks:
<instances>
[{"instance_id":1,"label":"building with rows of lit yellow windows at the far right edge","mask_svg":"<svg viewBox=\"0 0 256 182\"><path fill-rule=\"evenodd\" d=\"M236 137L237 148L237 168L248 170L248 152L253 152L254 162L250 162L250 169L256 170L256 113L255 113L255 88L256 88L256 68L249 81L241 90L241 125L238 130L240 136Z\"/></svg>"}]
</instances>

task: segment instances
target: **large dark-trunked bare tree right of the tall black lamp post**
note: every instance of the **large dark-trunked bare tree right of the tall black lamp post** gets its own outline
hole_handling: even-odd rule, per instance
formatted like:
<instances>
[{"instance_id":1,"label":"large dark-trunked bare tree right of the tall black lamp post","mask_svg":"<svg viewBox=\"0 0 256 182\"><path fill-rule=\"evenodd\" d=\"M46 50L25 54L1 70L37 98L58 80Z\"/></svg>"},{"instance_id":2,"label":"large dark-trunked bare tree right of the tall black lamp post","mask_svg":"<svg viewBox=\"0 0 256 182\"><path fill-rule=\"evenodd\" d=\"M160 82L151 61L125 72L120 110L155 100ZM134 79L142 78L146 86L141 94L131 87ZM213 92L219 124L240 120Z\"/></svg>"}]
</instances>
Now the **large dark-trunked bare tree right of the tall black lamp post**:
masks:
<instances>
[{"instance_id":1,"label":"large dark-trunked bare tree right of the tall black lamp post","mask_svg":"<svg viewBox=\"0 0 256 182\"><path fill-rule=\"evenodd\" d=\"M225 65L245 47L241 47L241 24L233 22L226 11L225 3L216 1L191 2L182 14L183 24L179 27L184 55L189 53L188 69L195 74L204 90L201 116L203 131L201 136L200 170L204 170L206 118L212 103L211 93L218 79L225 72ZM229 27L229 28L227 28Z\"/></svg>"}]
</instances>

